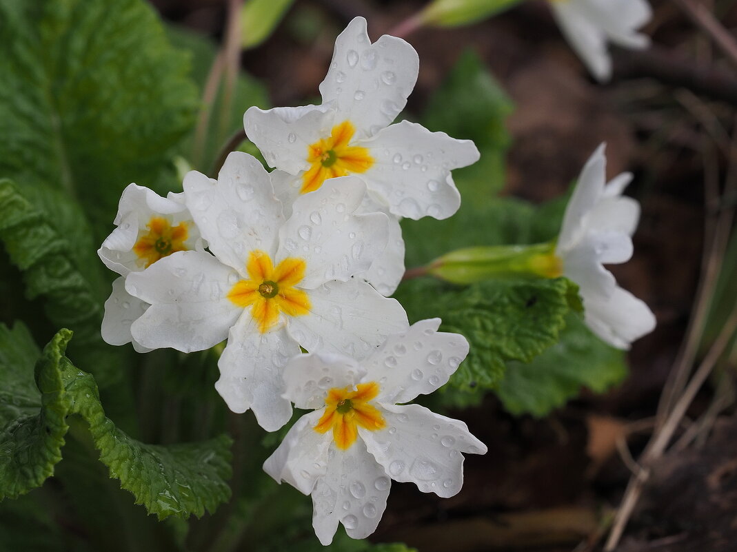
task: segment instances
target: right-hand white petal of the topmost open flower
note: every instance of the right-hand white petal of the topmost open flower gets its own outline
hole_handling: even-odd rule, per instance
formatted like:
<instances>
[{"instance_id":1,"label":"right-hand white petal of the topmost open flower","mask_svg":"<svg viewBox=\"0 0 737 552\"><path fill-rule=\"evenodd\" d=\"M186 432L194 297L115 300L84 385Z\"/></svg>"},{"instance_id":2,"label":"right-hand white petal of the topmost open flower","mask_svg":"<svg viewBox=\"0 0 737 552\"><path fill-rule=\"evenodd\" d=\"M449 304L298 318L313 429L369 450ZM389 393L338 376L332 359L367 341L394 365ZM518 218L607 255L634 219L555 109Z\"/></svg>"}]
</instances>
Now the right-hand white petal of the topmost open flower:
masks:
<instances>
[{"instance_id":1,"label":"right-hand white petal of the topmost open flower","mask_svg":"<svg viewBox=\"0 0 737 552\"><path fill-rule=\"evenodd\" d=\"M374 164L361 178L368 189L388 203L399 217L413 220L450 217L461 205L461 195L450 171L478 161L470 140L456 140L443 132L402 121L357 142L368 147Z\"/></svg>"}]
</instances>

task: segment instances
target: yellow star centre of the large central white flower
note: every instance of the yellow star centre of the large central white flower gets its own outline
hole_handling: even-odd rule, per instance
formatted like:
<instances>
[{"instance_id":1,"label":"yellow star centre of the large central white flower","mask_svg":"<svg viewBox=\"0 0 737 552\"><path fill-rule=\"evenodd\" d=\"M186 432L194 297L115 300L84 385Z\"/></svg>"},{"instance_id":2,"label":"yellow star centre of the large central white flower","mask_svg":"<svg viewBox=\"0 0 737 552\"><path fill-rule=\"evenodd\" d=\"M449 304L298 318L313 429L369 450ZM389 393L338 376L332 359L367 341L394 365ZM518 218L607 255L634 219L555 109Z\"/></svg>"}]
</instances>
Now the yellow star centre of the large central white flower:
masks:
<instances>
[{"instance_id":1,"label":"yellow star centre of the large central white flower","mask_svg":"<svg viewBox=\"0 0 737 552\"><path fill-rule=\"evenodd\" d=\"M251 307L260 332L268 332L279 321L280 312L290 316L310 312L307 293L294 287L304 278L304 259L288 257L274 268L264 251L251 251L245 268L251 279L236 282L228 299L244 309Z\"/></svg>"}]
</instances>

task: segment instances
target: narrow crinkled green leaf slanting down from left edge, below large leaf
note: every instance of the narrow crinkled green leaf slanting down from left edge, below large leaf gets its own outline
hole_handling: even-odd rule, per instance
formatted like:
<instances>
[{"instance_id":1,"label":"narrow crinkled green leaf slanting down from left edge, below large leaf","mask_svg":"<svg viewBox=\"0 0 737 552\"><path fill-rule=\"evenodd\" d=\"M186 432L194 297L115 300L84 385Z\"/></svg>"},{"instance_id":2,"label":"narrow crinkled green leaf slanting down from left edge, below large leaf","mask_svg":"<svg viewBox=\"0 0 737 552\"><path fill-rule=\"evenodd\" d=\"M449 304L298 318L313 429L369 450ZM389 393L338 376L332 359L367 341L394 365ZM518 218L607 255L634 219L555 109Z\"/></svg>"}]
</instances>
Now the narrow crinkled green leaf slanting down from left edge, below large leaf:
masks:
<instances>
[{"instance_id":1,"label":"narrow crinkled green leaf slanting down from left edge, below large leaf","mask_svg":"<svg viewBox=\"0 0 737 552\"><path fill-rule=\"evenodd\" d=\"M73 353L101 386L119 382L125 373L119 351L102 341L102 301L92 293L87 273L72 262L71 244L7 179L0 179L0 241L24 276L29 299L43 298L55 326L77 332Z\"/></svg>"}]
</instances>

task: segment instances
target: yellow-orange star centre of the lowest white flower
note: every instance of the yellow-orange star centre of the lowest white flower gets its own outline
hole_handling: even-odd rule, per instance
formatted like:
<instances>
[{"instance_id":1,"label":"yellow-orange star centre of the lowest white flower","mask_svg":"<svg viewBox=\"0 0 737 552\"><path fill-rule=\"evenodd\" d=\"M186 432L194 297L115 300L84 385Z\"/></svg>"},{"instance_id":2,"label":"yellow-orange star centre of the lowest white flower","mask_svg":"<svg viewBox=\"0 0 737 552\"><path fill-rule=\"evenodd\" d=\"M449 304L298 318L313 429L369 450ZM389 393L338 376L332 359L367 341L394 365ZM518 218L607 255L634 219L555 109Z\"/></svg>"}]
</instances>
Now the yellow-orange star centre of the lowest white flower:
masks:
<instances>
[{"instance_id":1,"label":"yellow-orange star centre of the lowest white flower","mask_svg":"<svg viewBox=\"0 0 737 552\"><path fill-rule=\"evenodd\" d=\"M358 426L370 431L381 430L386 422L380 411L369 404L379 394L377 382L359 383L356 391L346 387L332 388L325 398L325 413L315 431L327 433L332 429L335 446L347 450L358 437Z\"/></svg>"}]
</instances>

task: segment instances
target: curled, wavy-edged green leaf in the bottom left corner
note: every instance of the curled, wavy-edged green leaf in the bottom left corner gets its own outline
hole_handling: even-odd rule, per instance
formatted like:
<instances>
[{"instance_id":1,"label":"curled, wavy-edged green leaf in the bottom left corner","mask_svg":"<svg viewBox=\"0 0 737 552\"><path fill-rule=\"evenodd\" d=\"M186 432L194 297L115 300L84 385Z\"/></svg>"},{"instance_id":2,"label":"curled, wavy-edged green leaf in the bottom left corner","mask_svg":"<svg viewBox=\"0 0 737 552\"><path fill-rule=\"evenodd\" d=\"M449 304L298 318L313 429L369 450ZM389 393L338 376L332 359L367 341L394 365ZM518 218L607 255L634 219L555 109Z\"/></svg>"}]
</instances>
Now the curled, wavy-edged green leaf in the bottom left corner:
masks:
<instances>
[{"instance_id":1,"label":"curled, wavy-edged green leaf in the bottom left corner","mask_svg":"<svg viewBox=\"0 0 737 552\"><path fill-rule=\"evenodd\" d=\"M131 439L105 416L91 374L76 368L64 356L70 339L71 332L61 330L36 363L41 411L11 421L0 433L0 498L28 492L52 475L69 429L66 417L78 414L87 422L100 461L111 477L118 478L136 503L159 519L171 515L199 517L227 500L231 439L219 436L168 446ZM28 349L28 343L24 349ZM28 360L24 363L27 365ZM3 381L18 372L4 365L0 369Z\"/></svg>"}]
</instances>

